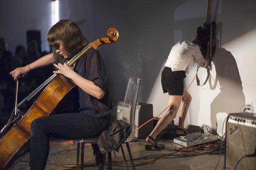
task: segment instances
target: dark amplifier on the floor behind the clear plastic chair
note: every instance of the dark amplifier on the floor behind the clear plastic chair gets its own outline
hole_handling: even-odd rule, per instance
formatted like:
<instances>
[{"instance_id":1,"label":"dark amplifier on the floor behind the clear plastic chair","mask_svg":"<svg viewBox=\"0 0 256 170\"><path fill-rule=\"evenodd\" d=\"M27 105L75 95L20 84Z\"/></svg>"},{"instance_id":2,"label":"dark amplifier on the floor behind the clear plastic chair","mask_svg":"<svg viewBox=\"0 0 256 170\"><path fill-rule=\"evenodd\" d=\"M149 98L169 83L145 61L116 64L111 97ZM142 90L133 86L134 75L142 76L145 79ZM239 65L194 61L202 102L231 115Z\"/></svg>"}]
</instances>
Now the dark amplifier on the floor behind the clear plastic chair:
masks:
<instances>
[{"instance_id":1,"label":"dark amplifier on the floor behind the clear plastic chair","mask_svg":"<svg viewBox=\"0 0 256 170\"><path fill-rule=\"evenodd\" d=\"M123 102L118 102L118 105L116 106L116 119L123 120L127 123L130 123L130 115L122 114L122 107L123 107ZM125 108L123 109L129 110L128 106L125 106ZM124 111L124 113L130 113L130 112ZM134 122L135 129L140 127L140 125L143 125L143 123L145 123L152 117L153 117L153 105L138 102L135 110L135 122ZM151 133L152 130L153 130L153 121L148 122L146 125L141 127L138 131L136 131L134 134L134 137L137 139L144 139Z\"/></svg>"}]
</instances>

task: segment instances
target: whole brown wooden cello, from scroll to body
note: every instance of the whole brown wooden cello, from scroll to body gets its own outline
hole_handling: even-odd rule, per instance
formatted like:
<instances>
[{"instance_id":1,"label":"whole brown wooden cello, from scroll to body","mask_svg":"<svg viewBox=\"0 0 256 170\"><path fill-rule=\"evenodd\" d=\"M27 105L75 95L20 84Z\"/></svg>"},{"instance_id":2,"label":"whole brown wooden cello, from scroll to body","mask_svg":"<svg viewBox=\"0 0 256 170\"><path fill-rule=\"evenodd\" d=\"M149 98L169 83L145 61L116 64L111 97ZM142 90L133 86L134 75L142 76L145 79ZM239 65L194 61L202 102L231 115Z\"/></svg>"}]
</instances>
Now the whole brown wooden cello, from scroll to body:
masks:
<instances>
[{"instance_id":1,"label":"whole brown wooden cello, from scroll to body","mask_svg":"<svg viewBox=\"0 0 256 170\"><path fill-rule=\"evenodd\" d=\"M109 28L107 35L108 37L98 38L97 40L90 42L83 50L76 54L76 56L70 59L67 64L72 66L83 57L85 52L90 48L97 49L100 45L111 44L112 42L115 42L119 36L116 28ZM31 122L39 117L49 116L52 112L61 108L70 93L72 93L73 88L76 87L76 84L61 74L53 74L42 85L35 89L35 91L20 102L17 107L26 100L31 99L45 86L47 87L38 96L28 111L26 111L20 120L12 125L7 133L0 139L0 169L13 167L26 155L26 153L29 152ZM15 111L16 109L15 106ZM9 122L9 124L10 123L11 122Z\"/></svg>"}]
</instances>

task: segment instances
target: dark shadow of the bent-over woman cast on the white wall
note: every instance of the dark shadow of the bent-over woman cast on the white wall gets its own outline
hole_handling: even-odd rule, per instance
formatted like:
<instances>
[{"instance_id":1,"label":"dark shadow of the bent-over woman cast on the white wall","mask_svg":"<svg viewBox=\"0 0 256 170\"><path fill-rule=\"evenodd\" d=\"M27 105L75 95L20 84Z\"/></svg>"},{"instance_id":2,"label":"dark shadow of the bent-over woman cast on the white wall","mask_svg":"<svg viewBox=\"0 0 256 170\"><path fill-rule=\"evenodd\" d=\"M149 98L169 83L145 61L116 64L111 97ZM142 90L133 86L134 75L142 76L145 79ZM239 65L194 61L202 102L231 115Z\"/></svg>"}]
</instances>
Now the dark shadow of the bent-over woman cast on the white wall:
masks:
<instances>
[{"instance_id":1,"label":"dark shadow of the bent-over woman cast on the white wall","mask_svg":"<svg viewBox=\"0 0 256 170\"><path fill-rule=\"evenodd\" d=\"M216 47L219 46L219 48L216 49L212 59L215 65L216 77L213 86L210 82L210 88L214 90L218 87L221 92L211 103L211 125L214 129L217 129L217 113L238 112L241 105L245 104L245 96L236 59L230 51L221 48L222 23L218 23L217 28L220 31L220 40L216 40Z\"/></svg>"}]
</instances>

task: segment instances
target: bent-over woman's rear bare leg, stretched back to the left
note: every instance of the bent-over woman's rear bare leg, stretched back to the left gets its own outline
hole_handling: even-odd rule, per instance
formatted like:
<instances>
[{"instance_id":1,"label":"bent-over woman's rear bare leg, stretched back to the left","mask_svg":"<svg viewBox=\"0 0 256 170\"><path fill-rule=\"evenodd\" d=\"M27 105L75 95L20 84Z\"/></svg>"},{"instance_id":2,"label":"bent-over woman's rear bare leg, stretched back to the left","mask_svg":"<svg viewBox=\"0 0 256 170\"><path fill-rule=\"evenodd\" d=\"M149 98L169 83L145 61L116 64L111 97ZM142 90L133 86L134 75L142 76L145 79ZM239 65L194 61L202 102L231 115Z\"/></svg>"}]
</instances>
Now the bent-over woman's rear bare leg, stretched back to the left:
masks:
<instances>
[{"instance_id":1,"label":"bent-over woman's rear bare leg, stretched back to the left","mask_svg":"<svg viewBox=\"0 0 256 170\"><path fill-rule=\"evenodd\" d=\"M179 96L171 96L169 95L169 105L172 104ZM150 133L149 136L152 138L156 138L157 135L164 129L166 126L172 122L172 120L176 117L177 111L180 107L181 98L178 99L167 111L167 113L157 122L156 127L153 129L153 131ZM146 141L150 144L154 144L154 142L147 138Z\"/></svg>"}]
</instances>

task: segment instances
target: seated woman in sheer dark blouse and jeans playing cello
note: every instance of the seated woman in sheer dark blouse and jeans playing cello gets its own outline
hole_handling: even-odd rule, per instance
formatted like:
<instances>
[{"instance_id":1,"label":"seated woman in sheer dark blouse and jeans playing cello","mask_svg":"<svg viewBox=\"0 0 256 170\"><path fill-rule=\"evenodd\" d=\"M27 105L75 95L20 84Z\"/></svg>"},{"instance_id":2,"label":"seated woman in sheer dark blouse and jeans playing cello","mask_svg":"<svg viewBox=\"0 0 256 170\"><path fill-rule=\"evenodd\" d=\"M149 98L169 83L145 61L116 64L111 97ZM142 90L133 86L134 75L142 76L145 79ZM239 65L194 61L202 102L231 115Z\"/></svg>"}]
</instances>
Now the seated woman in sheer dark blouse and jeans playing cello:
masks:
<instances>
[{"instance_id":1,"label":"seated woman in sheer dark blouse and jeans playing cello","mask_svg":"<svg viewBox=\"0 0 256 170\"><path fill-rule=\"evenodd\" d=\"M74 69L65 62L88 44L76 23L60 20L49 30L47 40L54 49L53 53L16 68L10 74L16 80L35 68L54 63L59 69L54 73L63 74L78 85L80 106L78 113L40 117L31 123L31 170L44 170L46 167L49 137L81 139L100 133L110 124L112 111L111 100L105 88L105 66L99 51L89 49L76 62ZM101 153L98 150L96 154Z\"/></svg>"}]
</instances>

